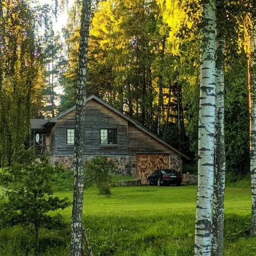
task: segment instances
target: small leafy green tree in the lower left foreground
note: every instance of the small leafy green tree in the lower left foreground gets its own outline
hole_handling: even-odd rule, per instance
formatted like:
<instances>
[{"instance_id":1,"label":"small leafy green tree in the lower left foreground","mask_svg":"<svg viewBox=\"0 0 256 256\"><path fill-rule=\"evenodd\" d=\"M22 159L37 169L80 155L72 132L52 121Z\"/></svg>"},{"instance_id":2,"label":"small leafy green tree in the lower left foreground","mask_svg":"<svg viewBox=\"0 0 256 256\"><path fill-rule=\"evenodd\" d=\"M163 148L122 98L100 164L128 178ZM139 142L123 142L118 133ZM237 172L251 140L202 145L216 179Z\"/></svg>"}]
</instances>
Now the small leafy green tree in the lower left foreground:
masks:
<instances>
[{"instance_id":1,"label":"small leafy green tree in the lower left foreground","mask_svg":"<svg viewBox=\"0 0 256 256\"><path fill-rule=\"evenodd\" d=\"M70 205L68 198L53 195L52 181L58 170L51 166L49 157L36 157L29 151L15 155L16 160L0 173L0 184L6 189L0 201L0 227L18 224L35 229L35 254L39 252L38 230L62 229L66 223L60 214L49 211Z\"/></svg>"}]
</instances>

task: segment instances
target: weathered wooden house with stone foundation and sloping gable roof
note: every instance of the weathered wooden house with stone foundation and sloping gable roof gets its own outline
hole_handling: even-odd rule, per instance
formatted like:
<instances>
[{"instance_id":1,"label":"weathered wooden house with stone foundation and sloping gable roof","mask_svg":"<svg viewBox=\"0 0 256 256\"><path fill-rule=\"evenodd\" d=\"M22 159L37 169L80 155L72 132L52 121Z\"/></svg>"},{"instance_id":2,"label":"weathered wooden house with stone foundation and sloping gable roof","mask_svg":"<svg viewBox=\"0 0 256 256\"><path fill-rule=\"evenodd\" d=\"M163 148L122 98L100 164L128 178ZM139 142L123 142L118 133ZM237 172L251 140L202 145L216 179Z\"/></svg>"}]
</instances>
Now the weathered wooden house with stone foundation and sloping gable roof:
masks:
<instances>
[{"instance_id":1,"label":"weathered wooden house with stone foundation and sloping gable roof","mask_svg":"<svg viewBox=\"0 0 256 256\"><path fill-rule=\"evenodd\" d=\"M76 106L46 119L31 119L31 147L47 153L54 164L73 168ZM92 95L86 99L84 160L107 156L116 163L116 174L136 175L146 183L154 170L182 172L185 154L108 103Z\"/></svg>"}]
</instances>

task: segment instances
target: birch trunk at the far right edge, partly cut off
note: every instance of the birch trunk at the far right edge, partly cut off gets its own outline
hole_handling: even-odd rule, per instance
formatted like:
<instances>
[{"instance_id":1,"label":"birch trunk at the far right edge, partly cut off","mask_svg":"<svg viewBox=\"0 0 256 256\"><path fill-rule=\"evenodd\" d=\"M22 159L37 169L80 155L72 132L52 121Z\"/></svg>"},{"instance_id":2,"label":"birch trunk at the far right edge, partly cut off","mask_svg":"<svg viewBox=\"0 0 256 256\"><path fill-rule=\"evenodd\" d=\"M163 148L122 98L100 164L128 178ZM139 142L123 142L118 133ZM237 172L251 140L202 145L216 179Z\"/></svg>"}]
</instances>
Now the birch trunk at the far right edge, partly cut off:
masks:
<instances>
[{"instance_id":1,"label":"birch trunk at the far right edge, partly cut off","mask_svg":"<svg viewBox=\"0 0 256 256\"><path fill-rule=\"evenodd\" d=\"M250 116L250 175L252 189L252 215L250 235L256 236L256 61L255 32L250 37L250 54L248 56L248 91Z\"/></svg>"}]
</instances>

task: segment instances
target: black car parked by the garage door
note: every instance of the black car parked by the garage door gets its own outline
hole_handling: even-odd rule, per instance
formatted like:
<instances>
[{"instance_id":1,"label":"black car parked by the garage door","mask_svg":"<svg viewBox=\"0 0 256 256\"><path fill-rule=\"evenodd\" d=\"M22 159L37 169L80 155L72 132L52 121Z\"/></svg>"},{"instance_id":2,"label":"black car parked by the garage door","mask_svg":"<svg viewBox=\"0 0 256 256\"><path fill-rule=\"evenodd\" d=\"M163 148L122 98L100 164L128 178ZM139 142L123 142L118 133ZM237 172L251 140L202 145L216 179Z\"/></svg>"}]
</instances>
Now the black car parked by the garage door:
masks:
<instances>
[{"instance_id":1,"label":"black car parked by the garage door","mask_svg":"<svg viewBox=\"0 0 256 256\"><path fill-rule=\"evenodd\" d=\"M148 177L148 185L171 185L181 186L182 174L172 169L156 170Z\"/></svg>"}]
</instances>

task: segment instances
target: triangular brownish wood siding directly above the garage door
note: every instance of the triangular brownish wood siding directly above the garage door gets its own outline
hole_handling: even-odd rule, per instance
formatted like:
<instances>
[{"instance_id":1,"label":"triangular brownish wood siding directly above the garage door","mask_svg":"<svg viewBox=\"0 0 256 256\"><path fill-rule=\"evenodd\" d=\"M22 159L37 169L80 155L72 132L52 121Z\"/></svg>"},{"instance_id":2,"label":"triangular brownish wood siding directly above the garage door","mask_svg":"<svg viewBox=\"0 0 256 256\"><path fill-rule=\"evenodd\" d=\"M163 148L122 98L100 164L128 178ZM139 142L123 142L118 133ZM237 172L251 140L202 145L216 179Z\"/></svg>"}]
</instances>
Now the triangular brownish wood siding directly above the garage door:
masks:
<instances>
[{"instance_id":1,"label":"triangular brownish wood siding directly above the garage door","mask_svg":"<svg viewBox=\"0 0 256 256\"><path fill-rule=\"evenodd\" d=\"M128 154L135 155L136 153L168 153L173 156L178 156L171 148L129 123Z\"/></svg>"}]
</instances>

